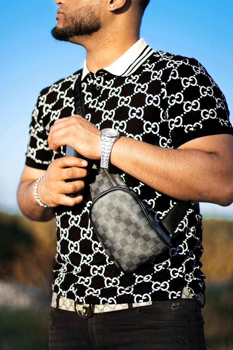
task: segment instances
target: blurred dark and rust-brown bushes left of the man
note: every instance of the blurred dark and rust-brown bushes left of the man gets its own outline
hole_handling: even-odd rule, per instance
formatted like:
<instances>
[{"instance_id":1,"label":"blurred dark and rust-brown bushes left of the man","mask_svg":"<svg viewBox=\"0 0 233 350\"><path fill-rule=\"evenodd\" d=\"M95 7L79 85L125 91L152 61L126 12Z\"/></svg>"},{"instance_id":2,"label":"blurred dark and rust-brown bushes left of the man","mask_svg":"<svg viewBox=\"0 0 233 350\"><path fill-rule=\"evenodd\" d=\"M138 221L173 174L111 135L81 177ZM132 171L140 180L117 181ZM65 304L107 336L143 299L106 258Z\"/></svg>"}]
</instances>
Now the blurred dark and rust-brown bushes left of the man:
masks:
<instances>
[{"instance_id":1,"label":"blurred dark and rust-brown bushes left of the man","mask_svg":"<svg viewBox=\"0 0 233 350\"><path fill-rule=\"evenodd\" d=\"M36 222L0 212L0 278L12 278L50 293L55 230L55 221Z\"/></svg>"}]
</instances>

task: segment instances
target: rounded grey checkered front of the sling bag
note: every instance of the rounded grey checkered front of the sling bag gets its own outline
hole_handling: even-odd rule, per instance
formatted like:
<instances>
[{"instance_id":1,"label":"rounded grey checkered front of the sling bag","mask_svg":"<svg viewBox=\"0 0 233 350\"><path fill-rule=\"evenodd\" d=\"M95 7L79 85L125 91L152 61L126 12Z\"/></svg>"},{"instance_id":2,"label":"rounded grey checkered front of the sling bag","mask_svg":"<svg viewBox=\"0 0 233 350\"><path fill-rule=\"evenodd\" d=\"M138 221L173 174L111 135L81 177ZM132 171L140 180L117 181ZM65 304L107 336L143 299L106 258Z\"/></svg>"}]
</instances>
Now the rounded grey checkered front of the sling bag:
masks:
<instances>
[{"instance_id":1,"label":"rounded grey checkered front of the sling bag","mask_svg":"<svg viewBox=\"0 0 233 350\"><path fill-rule=\"evenodd\" d=\"M90 221L106 252L126 274L170 246L144 203L125 186L97 196L90 208Z\"/></svg>"}]
</instances>

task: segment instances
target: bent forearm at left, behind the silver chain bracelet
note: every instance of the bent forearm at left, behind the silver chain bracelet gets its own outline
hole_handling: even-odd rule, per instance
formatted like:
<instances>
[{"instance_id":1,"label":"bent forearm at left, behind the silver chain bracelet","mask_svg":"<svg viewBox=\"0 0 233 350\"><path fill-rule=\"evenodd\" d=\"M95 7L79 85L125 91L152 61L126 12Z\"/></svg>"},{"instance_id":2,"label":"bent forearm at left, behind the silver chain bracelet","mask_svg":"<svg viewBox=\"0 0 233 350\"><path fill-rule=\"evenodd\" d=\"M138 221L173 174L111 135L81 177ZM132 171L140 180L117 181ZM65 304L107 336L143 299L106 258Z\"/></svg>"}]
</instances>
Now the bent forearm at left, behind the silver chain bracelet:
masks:
<instances>
[{"instance_id":1,"label":"bent forearm at left, behind the silver chain bracelet","mask_svg":"<svg viewBox=\"0 0 233 350\"><path fill-rule=\"evenodd\" d=\"M36 221L49 221L54 218L52 208L44 208L39 205L34 195L36 181L26 180L20 183L17 200L23 215Z\"/></svg>"}]
</instances>

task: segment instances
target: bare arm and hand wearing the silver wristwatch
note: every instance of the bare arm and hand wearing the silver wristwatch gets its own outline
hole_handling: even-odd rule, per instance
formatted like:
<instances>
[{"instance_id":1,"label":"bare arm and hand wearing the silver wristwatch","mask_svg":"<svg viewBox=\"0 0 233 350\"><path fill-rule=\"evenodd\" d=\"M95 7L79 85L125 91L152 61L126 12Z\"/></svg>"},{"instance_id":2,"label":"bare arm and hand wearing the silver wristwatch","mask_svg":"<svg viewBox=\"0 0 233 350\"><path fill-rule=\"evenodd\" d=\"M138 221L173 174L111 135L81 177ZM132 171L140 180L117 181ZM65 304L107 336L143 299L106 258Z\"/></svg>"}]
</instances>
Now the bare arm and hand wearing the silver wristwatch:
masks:
<instances>
[{"instance_id":1,"label":"bare arm and hand wearing the silver wristwatch","mask_svg":"<svg viewBox=\"0 0 233 350\"><path fill-rule=\"evenodd\" d=\"M99 130L80 116L55 121L48 142L53 150L67 144L86 158L100 159ZM232 135L197 138L178 149L121 137L112 148L110 161L171 197L220 205L233 202Z\"/></svg>"}]
</instances>

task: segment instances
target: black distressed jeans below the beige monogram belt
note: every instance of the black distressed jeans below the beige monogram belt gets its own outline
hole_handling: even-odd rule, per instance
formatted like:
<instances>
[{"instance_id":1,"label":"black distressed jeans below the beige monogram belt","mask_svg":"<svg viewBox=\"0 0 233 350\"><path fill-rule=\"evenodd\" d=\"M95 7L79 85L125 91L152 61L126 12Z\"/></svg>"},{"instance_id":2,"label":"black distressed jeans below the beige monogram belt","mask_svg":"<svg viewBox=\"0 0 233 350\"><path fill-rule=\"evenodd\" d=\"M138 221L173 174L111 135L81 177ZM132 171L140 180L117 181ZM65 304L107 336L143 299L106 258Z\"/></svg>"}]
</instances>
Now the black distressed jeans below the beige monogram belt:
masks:
<instances>
[{"instance_id":1,"label":"black distressed jeans below the beige monogram belt","mask_svg":"<svg viewBox=\"0 0 233 350\"><path fill-rule=\"evenodd\" d=\"M201 303L166 300L94 314L52 309L49 350L205 350Z\"/></svg>"}]
</instances>

